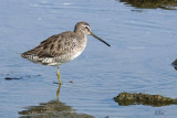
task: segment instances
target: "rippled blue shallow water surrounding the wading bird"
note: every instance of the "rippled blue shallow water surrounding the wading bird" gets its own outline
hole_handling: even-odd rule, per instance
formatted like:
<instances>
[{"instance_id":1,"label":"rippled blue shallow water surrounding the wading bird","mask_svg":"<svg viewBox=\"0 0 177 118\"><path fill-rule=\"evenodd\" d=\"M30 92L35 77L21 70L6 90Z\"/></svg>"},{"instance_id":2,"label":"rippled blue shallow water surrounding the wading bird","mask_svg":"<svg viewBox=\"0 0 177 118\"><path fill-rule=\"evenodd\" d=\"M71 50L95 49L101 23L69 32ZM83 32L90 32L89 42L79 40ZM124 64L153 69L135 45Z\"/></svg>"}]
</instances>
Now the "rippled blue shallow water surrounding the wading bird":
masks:
<instances>
[{"instance_id":1,"label":"rippled blue shallow water surrounding the wading bird","mask_svg":"<svg viewBox=\"0 0 177 118\"><path fill-rule=\"evenodd\" d=\"M25 107L56 99L56 67L33 64L20 53L73 30L79 21L88 22L112 46L87 36L83 54L61 66L61 103L97 118L176 117L176 105L118 106L113 100L122 92L177 98L177 72L170 65L177 58L176 10L139 9L115 0L1 0L2 118L20 117Z\"/></svg>"}]
</instances>

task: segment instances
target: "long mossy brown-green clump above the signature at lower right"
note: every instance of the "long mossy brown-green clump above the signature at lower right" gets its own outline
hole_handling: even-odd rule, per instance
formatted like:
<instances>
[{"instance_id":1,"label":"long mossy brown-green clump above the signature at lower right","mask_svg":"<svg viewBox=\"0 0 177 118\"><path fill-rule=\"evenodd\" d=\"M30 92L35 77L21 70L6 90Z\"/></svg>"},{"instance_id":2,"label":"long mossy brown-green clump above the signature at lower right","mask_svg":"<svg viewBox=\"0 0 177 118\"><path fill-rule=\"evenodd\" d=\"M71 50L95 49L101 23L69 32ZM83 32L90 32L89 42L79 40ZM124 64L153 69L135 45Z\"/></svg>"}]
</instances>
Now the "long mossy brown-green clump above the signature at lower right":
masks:
<instances>
[{"instance_id":1,"label":"long mossy brown-green clump above the signature at lower right","mask_svg":"<svg viewBox=\"0 0 177 118\"><path fill-rule=\"evenodd\" d=\"M114 100L118 103L119 106L148 105L153 107L160 107L177 105L177 98L173 99L162 95L149 95L143 93L119 93L118 96L114 97Z\"/></svg>"}]
</instances>

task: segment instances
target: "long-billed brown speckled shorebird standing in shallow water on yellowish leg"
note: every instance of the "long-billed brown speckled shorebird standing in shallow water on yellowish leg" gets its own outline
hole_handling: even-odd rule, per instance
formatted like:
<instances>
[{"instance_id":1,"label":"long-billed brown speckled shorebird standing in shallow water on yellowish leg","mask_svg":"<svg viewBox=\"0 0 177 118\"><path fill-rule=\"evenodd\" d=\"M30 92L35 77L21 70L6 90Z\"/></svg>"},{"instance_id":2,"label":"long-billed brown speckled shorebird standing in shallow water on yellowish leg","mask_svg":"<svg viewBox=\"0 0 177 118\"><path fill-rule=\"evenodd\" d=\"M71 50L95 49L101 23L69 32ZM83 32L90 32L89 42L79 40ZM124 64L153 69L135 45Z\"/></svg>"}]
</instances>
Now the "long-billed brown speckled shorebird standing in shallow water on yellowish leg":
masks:
<instances>
[{"instance_id":1,"label":"long-billed brown speckled shorebird standing in shallow water on yellowish leg","mask_svg":"<svg viewBox=\"0 0 177 118\"><path fill-rule=\"evenodd\" d=\"M84 51L87 42L86 35L92 35L111 46L91 31L88 23L81 21L75 24L74 31L52 35L34 49L21 53L21 56L34 63L58 66L56 76L61 85L60 65L74 60Z\"/></svg>"}]
</instances>

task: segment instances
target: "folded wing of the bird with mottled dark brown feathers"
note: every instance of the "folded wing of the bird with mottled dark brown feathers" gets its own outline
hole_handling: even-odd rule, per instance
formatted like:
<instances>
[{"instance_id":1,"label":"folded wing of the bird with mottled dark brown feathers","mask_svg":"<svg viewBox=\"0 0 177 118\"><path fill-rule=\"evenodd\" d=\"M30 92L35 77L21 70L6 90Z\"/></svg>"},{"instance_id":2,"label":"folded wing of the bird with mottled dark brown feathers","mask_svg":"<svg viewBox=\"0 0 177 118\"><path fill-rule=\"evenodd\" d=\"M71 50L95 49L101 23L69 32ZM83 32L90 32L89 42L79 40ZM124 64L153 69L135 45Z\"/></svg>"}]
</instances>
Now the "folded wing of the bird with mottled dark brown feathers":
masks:
<instances>
[{"instance_id":1,"label":"folded wing of the bird with mottled dark brown feathers","mask_svg":"<svg viewBox=\"0 0 177 118\"><path fill-rule=\"evenodd\" d=\"M34 55L39 58L63 56L76 45L76 35L73 32L63 32L52 35L40 43L39 46L22 53L22 56Z\"/></svg>"}]
</instances>

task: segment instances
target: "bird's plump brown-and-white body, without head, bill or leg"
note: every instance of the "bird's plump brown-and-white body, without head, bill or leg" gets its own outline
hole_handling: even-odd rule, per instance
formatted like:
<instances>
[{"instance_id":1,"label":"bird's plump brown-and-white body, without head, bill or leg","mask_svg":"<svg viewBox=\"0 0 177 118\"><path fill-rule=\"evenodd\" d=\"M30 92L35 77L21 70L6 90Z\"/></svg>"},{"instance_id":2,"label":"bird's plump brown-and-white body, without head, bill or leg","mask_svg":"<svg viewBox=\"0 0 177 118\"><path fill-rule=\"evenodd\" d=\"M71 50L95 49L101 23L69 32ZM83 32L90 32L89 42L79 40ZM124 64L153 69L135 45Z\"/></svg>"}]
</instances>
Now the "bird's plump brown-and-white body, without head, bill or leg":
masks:
<instances>
[{"instance_id":1,"label":"bird's plump brown-and-white body, without head, bill or leg","mask_svg":"<svg viewBox=\"0 0 177 118\"><path fill-rule=\"evenodd\" d=\"M42 64L59 65L79 56L85 46L86 36L67 31L50 36L21 56Z\"/></svg>"}]
</instances>

